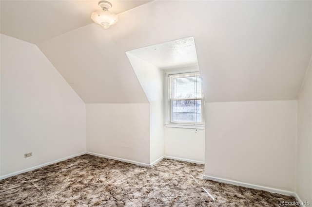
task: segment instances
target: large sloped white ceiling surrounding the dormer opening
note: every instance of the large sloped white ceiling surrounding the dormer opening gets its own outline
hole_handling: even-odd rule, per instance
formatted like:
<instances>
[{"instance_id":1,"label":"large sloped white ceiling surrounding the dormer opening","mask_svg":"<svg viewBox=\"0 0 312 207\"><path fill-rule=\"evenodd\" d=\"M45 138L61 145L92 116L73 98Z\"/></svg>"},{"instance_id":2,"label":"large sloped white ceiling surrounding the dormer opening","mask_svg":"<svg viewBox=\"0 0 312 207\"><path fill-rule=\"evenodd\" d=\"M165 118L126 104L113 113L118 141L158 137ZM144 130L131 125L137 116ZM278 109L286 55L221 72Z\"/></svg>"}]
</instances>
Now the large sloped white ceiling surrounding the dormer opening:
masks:
<instances>
[{"instance_id":1,"label":"large sloped white ceiling surrounding the dormer opening","mask_svg":"<svg viewBox=\"0 0 312 207\"><path fill-rule=\"evenodd\" d=\"M312 56L312 1L156 0L118 16L37 42L85 103L146 103L125 52L184 37L206 102L296 99Z\"/></svg>"}]
</instances>

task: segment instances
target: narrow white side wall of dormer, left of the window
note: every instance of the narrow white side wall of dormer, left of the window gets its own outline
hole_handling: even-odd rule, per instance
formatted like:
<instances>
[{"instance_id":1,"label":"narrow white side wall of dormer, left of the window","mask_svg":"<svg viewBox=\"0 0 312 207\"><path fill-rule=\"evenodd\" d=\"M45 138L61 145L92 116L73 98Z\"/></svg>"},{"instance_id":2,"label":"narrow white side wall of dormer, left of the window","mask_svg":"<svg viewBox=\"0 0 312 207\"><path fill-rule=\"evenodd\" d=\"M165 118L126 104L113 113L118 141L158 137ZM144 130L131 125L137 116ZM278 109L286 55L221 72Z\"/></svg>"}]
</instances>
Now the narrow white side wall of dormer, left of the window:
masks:
<instances>
[{"instance_id":1,"label":"narrow white side wall of dormer, left of the window","mask_svg":"<svg viewBox=\"0 0 312 207\"><path fill-rule=\"evenodd\" d=\"M127 52L145 95L150 103L150 163L164 155L164 101L163 71L156 66Z\"/></svg>"}]
</instances>

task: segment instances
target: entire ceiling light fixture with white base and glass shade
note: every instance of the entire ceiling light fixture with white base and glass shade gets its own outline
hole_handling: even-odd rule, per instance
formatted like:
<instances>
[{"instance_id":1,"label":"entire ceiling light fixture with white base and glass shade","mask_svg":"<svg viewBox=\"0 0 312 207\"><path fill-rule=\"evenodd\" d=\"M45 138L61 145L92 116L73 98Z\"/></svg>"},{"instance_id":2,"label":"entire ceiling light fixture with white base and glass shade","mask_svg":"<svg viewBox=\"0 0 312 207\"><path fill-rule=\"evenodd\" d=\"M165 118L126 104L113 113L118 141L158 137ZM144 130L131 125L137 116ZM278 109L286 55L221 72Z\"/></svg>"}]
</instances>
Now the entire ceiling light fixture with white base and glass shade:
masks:
<instances>
[{"instance_id":1,"label":"entire ceiling light fixture with white base and glass shade","mask_svg":"<svg viewBox=\"0 0 312 207\"><path fill-rule=\"evenodd\" d=\"M112 8L112 4L106 0L101 0L98 2L99 7L102 11L96 11L91 14L92 20L101 25L104 29L108 29L111 25L118 21L118 16L113 12L108 11Z\"/></svg>"}]
</instances>

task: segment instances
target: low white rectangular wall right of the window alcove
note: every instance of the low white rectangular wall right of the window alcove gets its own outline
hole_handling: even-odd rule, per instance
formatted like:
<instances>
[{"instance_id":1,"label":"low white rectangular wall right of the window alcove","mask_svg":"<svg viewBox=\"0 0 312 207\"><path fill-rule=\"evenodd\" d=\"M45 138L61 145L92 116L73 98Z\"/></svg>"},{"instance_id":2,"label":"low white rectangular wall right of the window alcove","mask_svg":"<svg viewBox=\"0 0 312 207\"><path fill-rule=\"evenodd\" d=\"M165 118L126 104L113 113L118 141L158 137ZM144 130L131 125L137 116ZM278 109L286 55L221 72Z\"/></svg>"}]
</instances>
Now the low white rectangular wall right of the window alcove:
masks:
<instances>
[{"instance_id":1,"label":"low white rectangular wall right of the window alcove","mask_svg":"<svg viewBox=\"0 0 312 207\"><path fill-rule=\"evenodd\" d=\"M294 191L296 101L206 103L205 175Z\"/></svg>"}]
</instances>

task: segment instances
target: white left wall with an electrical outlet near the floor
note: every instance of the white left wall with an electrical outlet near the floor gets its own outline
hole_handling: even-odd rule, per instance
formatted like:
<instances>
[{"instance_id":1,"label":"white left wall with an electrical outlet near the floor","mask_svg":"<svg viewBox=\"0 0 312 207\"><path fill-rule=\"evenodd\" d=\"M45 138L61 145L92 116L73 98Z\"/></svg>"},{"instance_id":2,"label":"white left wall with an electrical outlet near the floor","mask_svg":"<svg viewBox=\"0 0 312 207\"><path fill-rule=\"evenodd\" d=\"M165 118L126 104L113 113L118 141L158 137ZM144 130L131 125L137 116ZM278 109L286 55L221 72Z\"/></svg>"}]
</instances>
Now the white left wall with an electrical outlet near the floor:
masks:
<instances>
[{"instance_id":1,"label":"white left wall with an electrical outlet near the floor","mask_svg":"<svg viewBox=\"0 0 312 207\"><path fill-rule=\"evenodd\" d=\"M0 174L84 152L84 102L36 45L0 39Z\"/></svg>"}]
</instances>

